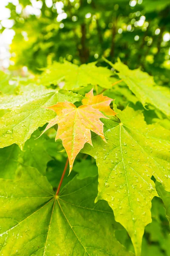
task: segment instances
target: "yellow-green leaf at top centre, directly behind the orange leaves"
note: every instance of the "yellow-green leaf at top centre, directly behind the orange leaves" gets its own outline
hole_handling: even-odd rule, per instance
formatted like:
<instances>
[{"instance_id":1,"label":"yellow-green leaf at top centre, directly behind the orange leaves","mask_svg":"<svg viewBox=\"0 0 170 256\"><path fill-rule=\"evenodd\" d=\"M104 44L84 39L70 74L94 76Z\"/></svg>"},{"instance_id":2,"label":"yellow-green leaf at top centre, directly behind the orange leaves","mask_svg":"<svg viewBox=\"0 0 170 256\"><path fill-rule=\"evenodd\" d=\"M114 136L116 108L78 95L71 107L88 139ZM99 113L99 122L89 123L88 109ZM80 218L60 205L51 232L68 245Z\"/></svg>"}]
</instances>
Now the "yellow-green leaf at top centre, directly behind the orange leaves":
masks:
<instances>
[{"instance_id":1,"label":"yellow-green leaf at top centre, directly behind the orange leaves","mask_svg":"<svg viewBox=\"0 0 170 256\"><path fill-rule=\"evenodd\" d=\"M104 88L110 88L109 77L113 74L111 70L105 67L96 67L95 62L77 66L68 61L63 64L55 62L42 74L41 83L45 85L58 84L64 80L64 89L75 90L80 87L86 87L88 84Z\"/></svg>"}]
</instances>

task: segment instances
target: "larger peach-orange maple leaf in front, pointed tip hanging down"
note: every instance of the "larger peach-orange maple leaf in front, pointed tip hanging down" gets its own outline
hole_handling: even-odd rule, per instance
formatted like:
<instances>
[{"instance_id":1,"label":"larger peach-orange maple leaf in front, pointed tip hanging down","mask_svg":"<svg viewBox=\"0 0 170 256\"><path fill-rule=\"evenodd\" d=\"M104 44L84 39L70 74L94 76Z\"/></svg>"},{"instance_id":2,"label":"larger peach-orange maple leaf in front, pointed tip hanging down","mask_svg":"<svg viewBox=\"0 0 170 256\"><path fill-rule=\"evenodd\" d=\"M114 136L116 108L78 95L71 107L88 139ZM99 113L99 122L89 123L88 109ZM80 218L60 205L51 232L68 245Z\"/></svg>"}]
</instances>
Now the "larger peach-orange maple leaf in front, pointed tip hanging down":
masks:
<instances>
[{"instance_id":1,"label":"larger peach-orange maple leaf in front, pointed tip hanging down","mask_svg":"<svg viewBox=\"0 0 170 256\"><path fill-rule=\"evenodd\" d=\"M58 124L55 140L62 140L68 154L71 172L74 160L85 143L92 145L91 131L94 131L105 141L103 123L99 119L108 119L108 117L91 105L82 105L77 108L67 101L58 102L56 105L47 108L55 111L57 116L48 123L43 133Z\"/></svg>"}]
</instances>

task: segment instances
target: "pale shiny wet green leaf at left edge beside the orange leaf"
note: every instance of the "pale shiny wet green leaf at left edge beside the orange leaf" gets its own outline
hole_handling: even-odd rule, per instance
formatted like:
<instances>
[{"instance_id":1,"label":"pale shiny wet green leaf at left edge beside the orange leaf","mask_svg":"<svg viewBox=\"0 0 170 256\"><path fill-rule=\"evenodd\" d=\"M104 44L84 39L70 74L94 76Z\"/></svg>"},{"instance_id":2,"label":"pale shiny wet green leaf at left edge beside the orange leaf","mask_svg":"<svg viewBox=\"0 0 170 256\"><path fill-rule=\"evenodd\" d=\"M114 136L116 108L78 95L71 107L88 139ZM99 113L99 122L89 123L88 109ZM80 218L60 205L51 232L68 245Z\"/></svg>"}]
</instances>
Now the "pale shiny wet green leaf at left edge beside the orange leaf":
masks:
<instances>
[{"instance_id":1,"label":"pale shiny wet green leaf at left edge beside the orange leaf","mask_svg":"<svg viewBox=\"0 0 170 256\"><path fill-rule=\"evenodd\" d=\"M56 115L44 107L65 100L74 103L83 98L66 90L47 90L38 86L35 88L22 95L0 98L0 109L12 109L0 118L0 148L13 143L23 148L31 134Z\"/></svg>"}]
</instances>

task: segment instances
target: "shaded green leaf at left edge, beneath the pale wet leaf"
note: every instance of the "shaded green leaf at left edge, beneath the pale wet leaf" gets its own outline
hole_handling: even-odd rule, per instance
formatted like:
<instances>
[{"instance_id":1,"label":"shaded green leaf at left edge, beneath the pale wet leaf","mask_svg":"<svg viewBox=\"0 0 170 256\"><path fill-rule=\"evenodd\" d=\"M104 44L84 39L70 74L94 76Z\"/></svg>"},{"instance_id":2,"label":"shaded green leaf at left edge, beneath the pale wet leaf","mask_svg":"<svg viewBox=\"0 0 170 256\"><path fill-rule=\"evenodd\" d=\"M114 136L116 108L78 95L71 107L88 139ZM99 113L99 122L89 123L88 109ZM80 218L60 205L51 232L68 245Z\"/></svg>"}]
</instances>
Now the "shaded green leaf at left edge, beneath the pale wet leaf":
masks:
<instances>
[{"instance_id":1,"label":"shaded green leaf at left edge, beneath the pale wet leaf","mask_svg":"<svg viewBox=\"0 0 170 256\"><path fill-rule=\"evenodd\" d=\"M48 140L45 137L40 137L38 141L35 140L39 135L40 132L34 132L26 141L23 151L16 144L0 149L0 166L3 166L0 169L1 178L13 179L20 163L33 166L40 173L45 174L47 163L52 158L45 148L45 143L48 143Z\"/></svg>"}]
</instances>

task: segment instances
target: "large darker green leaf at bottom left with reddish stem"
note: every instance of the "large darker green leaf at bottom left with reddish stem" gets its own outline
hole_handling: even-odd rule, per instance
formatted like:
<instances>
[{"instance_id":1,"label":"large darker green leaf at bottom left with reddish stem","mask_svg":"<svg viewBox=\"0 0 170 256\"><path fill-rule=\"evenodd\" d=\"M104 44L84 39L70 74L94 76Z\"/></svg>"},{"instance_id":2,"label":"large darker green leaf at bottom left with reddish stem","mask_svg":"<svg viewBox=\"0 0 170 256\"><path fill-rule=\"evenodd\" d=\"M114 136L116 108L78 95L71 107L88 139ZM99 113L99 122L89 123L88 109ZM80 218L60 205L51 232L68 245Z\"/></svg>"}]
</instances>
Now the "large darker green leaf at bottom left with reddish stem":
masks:
<instances>
[{"instance_id":1,"label":"large darker green leaf at bottom left with reddish stem","mask_svg":"<svg viewBox=\"0 0 170 256\"><path fill-rule=\"evenodd\" d=\"M115 239L119 225L108 204L94 204L96 192L96 178L75 177L55 197L31 167L20 180L0 179L1 255L133 255Z\"/></svg>"}]
</instances>

